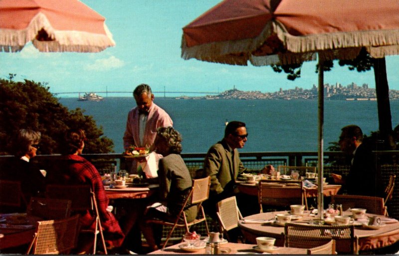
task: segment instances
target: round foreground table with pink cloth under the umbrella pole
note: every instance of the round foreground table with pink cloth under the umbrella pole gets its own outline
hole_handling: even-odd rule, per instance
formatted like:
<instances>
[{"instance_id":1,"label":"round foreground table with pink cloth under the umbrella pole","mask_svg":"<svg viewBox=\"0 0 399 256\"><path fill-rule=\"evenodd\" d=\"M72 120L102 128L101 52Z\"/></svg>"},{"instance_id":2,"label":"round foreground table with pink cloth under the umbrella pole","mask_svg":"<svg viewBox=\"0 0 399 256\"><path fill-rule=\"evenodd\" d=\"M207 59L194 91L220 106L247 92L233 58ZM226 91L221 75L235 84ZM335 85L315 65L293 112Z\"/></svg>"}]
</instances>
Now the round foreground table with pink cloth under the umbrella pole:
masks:
<instances>
[{"instance_id":1,"label":"round foreground table with pink cloth under the umbrella pole","mask_svg":"<svg viewBox=\"0 0 399 256\"><path fill-rule=\"evenodd\" d=\"M276 238L276 246L284 246L284 227L275 225L272 220L276 214L287 213L269 212L247 216L244 220L238 222L245 239L248 243L256 243L256 237L273 237ZM343 215L352 215L350 212L344 212ZM376 214L366 214L368 217L378 216L381 218L382 225L379 229L367 229L363 226L355 225L355 239L358 241L358 251L370 251L393 245L399 241L399 221L396 219L380 216ZM309 211L305 211L302 218L294 223L309 223L310 220L317 217L310 215ZM252 221L250 221L252 220ZM337 248L337 252L339 248Z\"/></svg>"}]
</instances>

